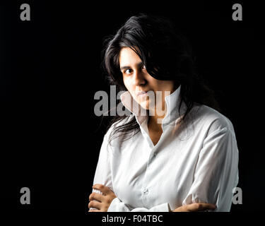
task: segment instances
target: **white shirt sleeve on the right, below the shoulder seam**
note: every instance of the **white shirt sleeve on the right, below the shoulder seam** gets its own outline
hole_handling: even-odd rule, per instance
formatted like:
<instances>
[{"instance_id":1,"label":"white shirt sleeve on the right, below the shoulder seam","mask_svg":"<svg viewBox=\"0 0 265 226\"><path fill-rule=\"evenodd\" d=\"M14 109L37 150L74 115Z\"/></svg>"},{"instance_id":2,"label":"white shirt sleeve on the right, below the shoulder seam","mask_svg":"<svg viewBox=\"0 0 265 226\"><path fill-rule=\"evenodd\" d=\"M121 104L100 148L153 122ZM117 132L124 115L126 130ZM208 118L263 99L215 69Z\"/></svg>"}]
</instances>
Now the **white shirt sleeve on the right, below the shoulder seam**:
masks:
<instances>
[{"instance_id":1,"label":"white shirt sleeve on the right, below the shoulder seam","mask_svg":"<svg viewBox=\"0 0 265 226\"><path fill-rule=\"evenodd\" d=\"M229 212L232 189L238 183L238 149L234 131L213 131L204 140L194 172L194 181L182 202L216 204L214 212Z\"/></svg>"}]
</instances>

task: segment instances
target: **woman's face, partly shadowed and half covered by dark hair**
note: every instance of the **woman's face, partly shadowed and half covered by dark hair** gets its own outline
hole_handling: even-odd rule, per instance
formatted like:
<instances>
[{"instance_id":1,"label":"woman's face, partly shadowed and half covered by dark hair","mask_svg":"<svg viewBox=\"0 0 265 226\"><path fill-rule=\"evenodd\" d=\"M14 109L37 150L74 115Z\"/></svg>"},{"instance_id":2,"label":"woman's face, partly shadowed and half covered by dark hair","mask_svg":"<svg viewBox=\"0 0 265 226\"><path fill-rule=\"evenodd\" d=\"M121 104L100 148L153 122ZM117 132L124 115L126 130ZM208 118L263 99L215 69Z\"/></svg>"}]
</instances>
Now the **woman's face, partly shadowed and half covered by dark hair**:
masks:
<instances>
[{"instance_id":1,"label":"woman's face, partly shadowed and half covered by dark hair","mask_svg":"<svg viewBox=\"0 0 265 226\"><path fill-rule=\"evenodd\" d=\"M125 87L141 107L144 109L155 107L158 98L157 91L161 91L158 92L160 93L158 100L161 100L162 108L165 108L165 96L175 91L173 81L161 81L150 76L140 57L129 47L124 47L119 52L119 67L122 71ZM154 93L155 99L146 94L148 91Z\"/></svg>"}]
</instances>

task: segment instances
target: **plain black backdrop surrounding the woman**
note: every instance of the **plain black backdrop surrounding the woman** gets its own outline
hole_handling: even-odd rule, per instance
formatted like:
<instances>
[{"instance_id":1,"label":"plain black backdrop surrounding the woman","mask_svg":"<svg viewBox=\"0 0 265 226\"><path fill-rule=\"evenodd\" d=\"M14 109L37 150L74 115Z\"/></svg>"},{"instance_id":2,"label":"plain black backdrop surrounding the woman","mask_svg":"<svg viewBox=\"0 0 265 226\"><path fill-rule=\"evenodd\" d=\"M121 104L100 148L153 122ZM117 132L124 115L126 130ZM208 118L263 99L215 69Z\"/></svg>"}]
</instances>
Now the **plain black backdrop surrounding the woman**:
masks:
<instances>
[{"instance_id":1,"label":"plain black backdrop surrounding the woman","mask_svg":"<svg viewBox=\"0 0 265 226\"><path fill-rule=\"evenodd\" d=\"M130 16L156 13L192 43L199 73L216 90L235 127L242 205L261 210L265 191L261 135L264 17L242 1L13 1L1 4L1 172L8 208L86 212L104 126L94 94L109 92L100 69L102 42ZM20 20L28 3L31 20ZM232 20L232 4L243 20ZM107 121L105 121L107 123ZM28 186L31 204L20 204Z\"/></svg>"}]
</instances>

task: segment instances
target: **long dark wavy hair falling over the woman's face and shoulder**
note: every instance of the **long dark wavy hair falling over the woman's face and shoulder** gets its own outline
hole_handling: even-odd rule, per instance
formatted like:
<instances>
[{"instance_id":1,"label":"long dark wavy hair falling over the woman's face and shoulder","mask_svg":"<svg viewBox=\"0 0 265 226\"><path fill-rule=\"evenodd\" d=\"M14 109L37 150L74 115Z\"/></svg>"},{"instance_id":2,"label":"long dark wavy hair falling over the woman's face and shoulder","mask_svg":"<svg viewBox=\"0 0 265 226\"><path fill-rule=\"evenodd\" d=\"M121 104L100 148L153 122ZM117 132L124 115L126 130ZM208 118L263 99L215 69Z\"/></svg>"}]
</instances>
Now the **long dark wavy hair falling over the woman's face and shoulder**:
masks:
<instances>
[{"instance_id":1,"label":"long dark wavy hair falling over the woman's face and shoulder","mask_svg":"<svg viewBox=\"0 0 265 226\"><path fill-rule=\"evenodd\" d=\"M117 86L117 92L126 90L122 72L119 69L119 52L123 47L129 47L140 57L146 71L158 80L175 81L181 85L179 111L184 102L187 110L182 117L185 121L194 105L207 105L220 112L220 107L213 90L208 88L203 78L196 73L192 48L184 35L168 18L140 13L131 16L119 28L116 35L108 37L103 49L102 66L107 73L110 85ZM120 102L120 100L118 100ZM125 120L120 126L114 126L110 134L129 134L134 136L140 131L135 117L115 116L107 126L107 130L115 122ZM116 136L117 137L117 136Z\"/></svg>"}]
</instances>

